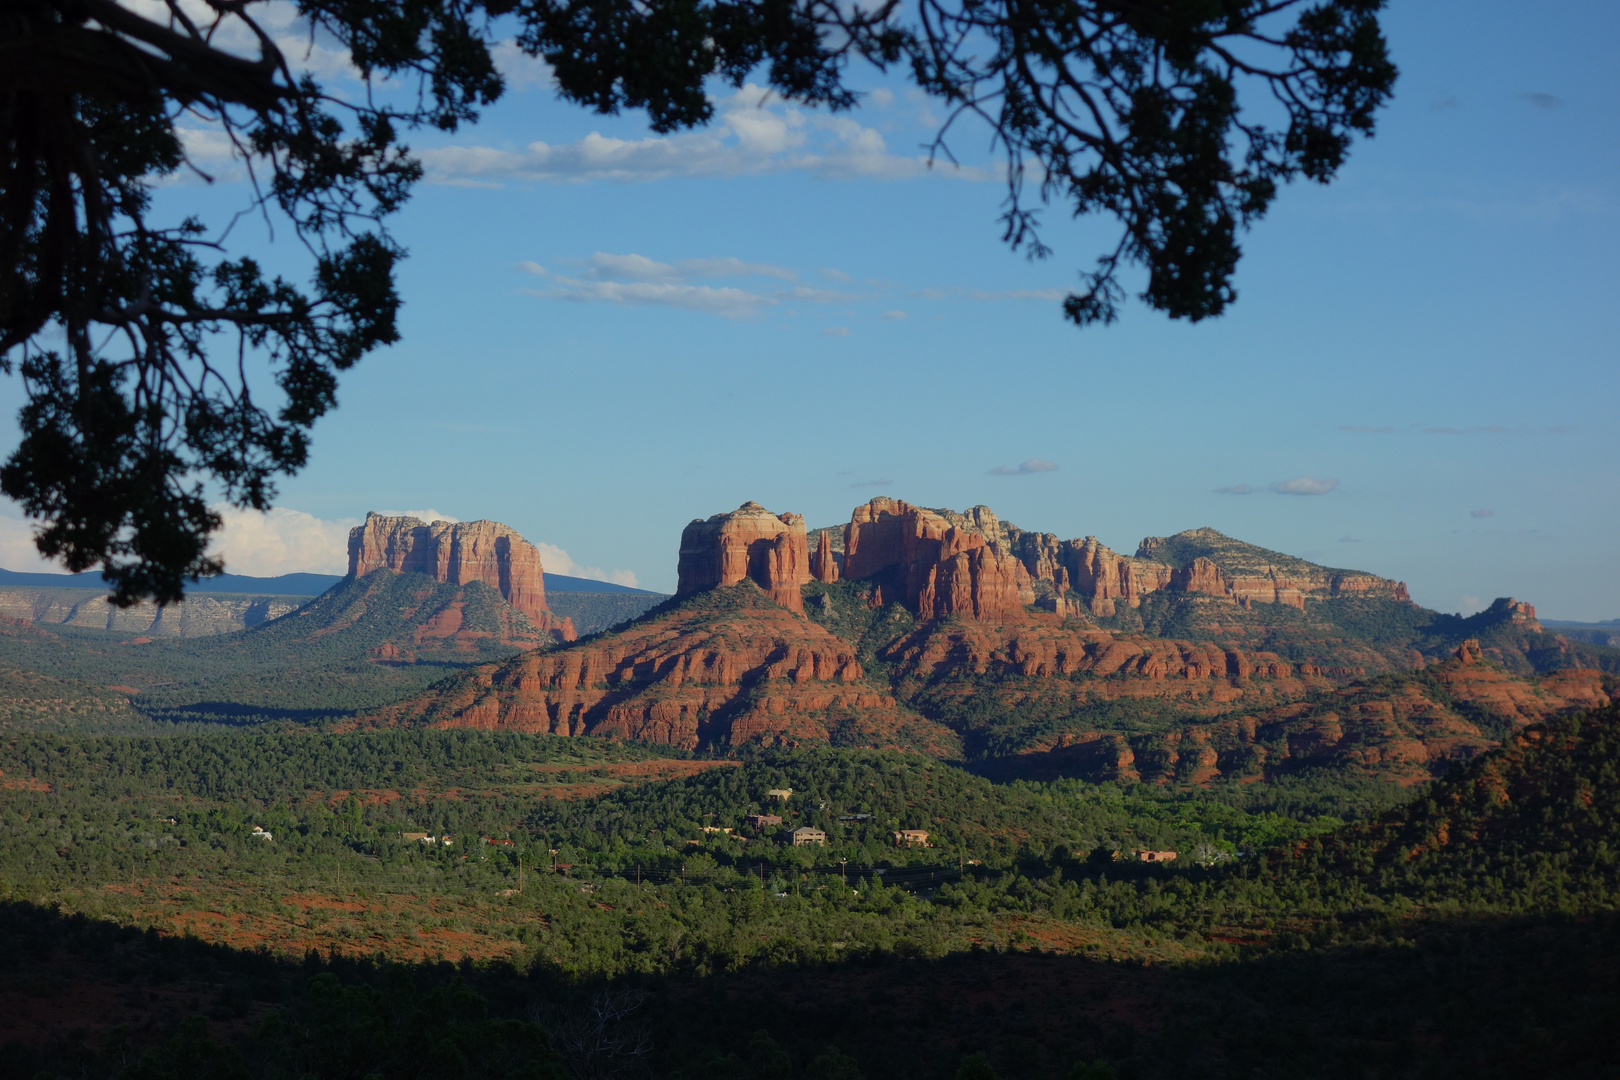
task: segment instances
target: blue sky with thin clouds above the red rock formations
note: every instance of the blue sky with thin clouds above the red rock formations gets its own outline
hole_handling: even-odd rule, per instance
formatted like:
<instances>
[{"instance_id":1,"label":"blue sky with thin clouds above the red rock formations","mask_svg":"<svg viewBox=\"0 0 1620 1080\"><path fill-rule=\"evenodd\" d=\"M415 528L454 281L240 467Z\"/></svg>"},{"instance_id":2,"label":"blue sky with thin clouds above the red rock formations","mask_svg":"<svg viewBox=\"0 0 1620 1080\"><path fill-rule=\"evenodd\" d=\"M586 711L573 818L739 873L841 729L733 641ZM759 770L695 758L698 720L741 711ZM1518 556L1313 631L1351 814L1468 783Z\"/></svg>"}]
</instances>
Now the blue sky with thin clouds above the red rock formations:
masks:
<instances>
[{"instance_id":1,"label":"blue sky with thin clouds above the red rock formations","mask_svg":"<svg viewBox=\"0 0 1620 1080\"><path fill-rule=\"evenodd\" d=\"M925 168L938 110L897 81L859 76L846 117L721 91L714 128L661 139L507 53L497 108L415 139L405 342L345 379L282 510L233 518L230 568L329 570L366 510L428 508L672 589L693 517L816 526L883 494L1124 552L1210 525L1442 610L1620 617L1620 6L1408 0L1387 32L1377 138L1283 193L1230 314L1089 330L1058 298L1108 225L1058 210L1053 259L1009 253L985 133ZM222 219L241 188L160 198Z\"/></svg>"}]
</instances>

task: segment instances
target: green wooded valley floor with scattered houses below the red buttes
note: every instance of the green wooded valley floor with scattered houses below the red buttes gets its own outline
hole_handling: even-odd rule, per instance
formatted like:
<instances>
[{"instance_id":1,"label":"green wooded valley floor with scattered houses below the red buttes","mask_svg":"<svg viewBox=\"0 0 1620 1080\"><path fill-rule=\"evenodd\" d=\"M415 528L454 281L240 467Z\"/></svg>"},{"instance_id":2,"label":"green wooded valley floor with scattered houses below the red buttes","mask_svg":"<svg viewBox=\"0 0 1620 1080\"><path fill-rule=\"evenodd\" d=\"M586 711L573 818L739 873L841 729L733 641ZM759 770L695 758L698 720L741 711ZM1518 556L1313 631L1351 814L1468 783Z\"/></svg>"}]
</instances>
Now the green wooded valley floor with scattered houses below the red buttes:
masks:
<instances>
[{"instance_id":1,"label":"green wooded valley floor with scattered houses below the red buttes","mask_svg":"<svg viewBox=\"0 0 1620 1080\"><path fill-rule=\"evenodd\" d=\"M1341 826L1306 811L1354 805L1327 777L1178 795L995 785L915 756L739 766L480 732L11 740L0 866L23 904L0 933L28 946L0 950L0 1004L47 1015L16 963L49 959L91 1030L139 1027L122 1059L49 1023L0 1023L0 1043L29 1075L144 1075L117 1072L141 1048L152 1067L206 1051L269 1069L322 1009L342 1002L348 1018L321 1022L339 1033L394 1001L382 1030L449 1009L434 1023L480 1046L523 1031L480 1028L484 1009L538 1018L572 1075L643 1061L948 1080L975 1051L1017 1080L1077 1064L1145 1080L1602 1075L1620 1018L1617 712L1521 730ZM747 823L760 811L821 823L828 847L782 845ZM936 848L875 836L927 816L946 818ZM687 844L708 823L732 836ZM1131 858L1162 844L1176 861ZM49 904L285 960L109 936ZM449 968L300 970L309 947L483 959L462 968L481 997L457 999L471 989ZM120 996L139 1004L97 1012ZM198 1014L206 1027L173 1033Z\"/></svg>"}]
</instances>

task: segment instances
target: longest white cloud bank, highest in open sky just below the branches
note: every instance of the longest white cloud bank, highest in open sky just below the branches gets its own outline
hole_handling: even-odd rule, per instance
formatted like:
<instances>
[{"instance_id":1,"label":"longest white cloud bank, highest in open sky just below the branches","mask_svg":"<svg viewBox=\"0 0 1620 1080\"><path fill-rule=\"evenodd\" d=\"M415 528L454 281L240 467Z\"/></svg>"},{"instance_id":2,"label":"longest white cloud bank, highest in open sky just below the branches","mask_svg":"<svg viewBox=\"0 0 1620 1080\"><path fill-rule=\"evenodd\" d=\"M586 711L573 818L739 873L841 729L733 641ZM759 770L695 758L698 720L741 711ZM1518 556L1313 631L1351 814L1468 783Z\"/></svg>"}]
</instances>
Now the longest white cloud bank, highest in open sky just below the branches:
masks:
<instances>
[{"instance_id":1,"label":"longest white cloud bank, highest in open sky just below the branches","mask_svg":"<svg viewBox=\"0 0 1620 1080\"><path fill-rule=\"evenodd\" d=\"M598 131L575 142L522 149L441 146L418 154L431 183L505 185L808 172L831 180L909 180L938 172L961 180L995 173L891 154L883 134L849 117L807 113L748 84L716 102L703 131L619 139Z\"/></svg>"}]
</instances>

